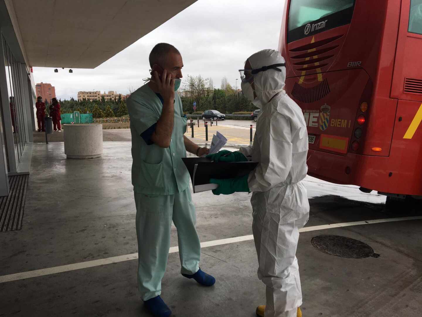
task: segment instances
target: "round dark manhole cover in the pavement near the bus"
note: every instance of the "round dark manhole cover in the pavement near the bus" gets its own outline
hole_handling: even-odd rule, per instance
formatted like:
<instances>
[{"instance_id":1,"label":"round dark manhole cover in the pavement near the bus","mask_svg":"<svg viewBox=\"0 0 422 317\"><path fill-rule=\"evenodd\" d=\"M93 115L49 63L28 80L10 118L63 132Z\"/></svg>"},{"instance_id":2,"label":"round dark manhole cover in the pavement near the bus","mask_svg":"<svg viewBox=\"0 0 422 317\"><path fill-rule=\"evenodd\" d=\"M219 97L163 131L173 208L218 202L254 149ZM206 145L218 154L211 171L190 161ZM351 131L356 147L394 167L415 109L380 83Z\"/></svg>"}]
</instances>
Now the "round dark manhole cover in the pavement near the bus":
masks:
<instances>
[{"instance_id":1,"label":"round dark manhole cover in the pavement near the bus","mask_svg":"<svg viewBox=\"0 0 422 317\"><path fill-rule=\"evenodd\" d=\"M312 245L319 251L352 259L379 257L368 244L340 235L318 235L312 238Z\"/></svg>"}]
</instances>

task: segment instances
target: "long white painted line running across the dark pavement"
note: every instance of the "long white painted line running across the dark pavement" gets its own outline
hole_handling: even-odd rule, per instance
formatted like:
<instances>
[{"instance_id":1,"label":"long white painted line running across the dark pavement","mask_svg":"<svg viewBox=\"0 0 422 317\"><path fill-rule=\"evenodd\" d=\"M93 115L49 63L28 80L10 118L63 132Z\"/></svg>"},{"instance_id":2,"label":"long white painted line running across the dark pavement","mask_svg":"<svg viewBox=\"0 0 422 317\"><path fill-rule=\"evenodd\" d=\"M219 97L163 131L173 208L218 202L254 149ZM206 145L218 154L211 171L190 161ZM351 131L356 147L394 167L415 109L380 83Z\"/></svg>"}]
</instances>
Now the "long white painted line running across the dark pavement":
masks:
<instances>
[{"instance_id":1,"label":"long white painted line running across the dark pavement","mask_svg":"<svg viewBox=\"0 0 422 317\"><path fill-rule=\"evenodd\" d=\"M354 221L354 222L343 222L338 224L323 224L320 226L305 227L299 230L299 232L308 232L308 231L317 231L325 230L332 228L342 228L350 226L359 226L364 224L379 224L383 222L394 222L394 221L405 221L405 220L419 220L422 219L422 216L413 216L413 217L401 217L401 218L387 218L387 219L374 219L366 221ZM241 237L227 238L221 240L206 241L201 243L201 248L206 248L209 246L221 246L223 244L236 243L242 241L254 240L253 235L243 235ZM173 246L170 248L169 253L175 253L179 251L179 247ZM31 277L50 275L55 273L62 273L68 271L79 270L82 268L92 268L94 266L130 261L138 259L138 253L120 255L118 257L108 257L105 259L92 260L87 262L80 262L68 265L55 266L53 268L43 268L41 270L27 271L22 273L14 273L9 275L0 276L0 283L17 281L20 279L29 279Z\"/></svg>"}]
</instances>

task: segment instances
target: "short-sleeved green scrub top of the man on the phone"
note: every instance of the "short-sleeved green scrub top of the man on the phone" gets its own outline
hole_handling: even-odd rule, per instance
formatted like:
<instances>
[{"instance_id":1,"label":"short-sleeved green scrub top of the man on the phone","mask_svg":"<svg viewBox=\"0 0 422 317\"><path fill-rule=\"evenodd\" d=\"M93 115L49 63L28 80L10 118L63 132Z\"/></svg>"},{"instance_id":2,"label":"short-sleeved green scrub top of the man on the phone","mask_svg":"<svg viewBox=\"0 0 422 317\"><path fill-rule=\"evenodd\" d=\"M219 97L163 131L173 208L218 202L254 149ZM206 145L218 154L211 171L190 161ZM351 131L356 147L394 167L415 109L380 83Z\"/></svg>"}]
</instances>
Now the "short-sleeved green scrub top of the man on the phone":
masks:
<instances>
[{"instance_id":1,"label":"short-sleeved green scrub top of the man on the phone","mask_svg":"<svg viewBox=\"0 0 422 317\"><path fill-rule=\"evenodd\" d=\"M186 157L184 133L187 119L183 116L182 102L174 97L174 127L170 147L147 145L141 134L157 123L162 102L148 85L143 85L127 98L132 134L132 185L141 194L172 195L189 186L189 172L181 158Z\"/></svg>"}]
</instances>

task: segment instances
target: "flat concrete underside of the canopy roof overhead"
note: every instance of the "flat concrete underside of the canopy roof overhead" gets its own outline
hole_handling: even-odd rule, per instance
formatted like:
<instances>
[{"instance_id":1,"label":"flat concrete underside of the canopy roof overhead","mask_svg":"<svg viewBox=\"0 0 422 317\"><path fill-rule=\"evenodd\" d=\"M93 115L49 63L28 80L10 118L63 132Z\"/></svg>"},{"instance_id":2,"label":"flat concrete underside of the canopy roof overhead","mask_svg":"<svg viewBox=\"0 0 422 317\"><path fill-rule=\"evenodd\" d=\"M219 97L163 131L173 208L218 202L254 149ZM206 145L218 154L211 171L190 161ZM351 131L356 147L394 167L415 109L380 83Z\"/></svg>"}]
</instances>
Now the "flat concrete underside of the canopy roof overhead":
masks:
<instances>
[{"instance_id":1,"label":"flat concrete underside of the canopy roof overhead","mask_svg":"<svg viewBox=\"0 0 422 317\"><path fill-rule=\"evenodd\" d=\"M95 68L196 0L12 0L30 66Z\"/></svg>"}]
</instances>

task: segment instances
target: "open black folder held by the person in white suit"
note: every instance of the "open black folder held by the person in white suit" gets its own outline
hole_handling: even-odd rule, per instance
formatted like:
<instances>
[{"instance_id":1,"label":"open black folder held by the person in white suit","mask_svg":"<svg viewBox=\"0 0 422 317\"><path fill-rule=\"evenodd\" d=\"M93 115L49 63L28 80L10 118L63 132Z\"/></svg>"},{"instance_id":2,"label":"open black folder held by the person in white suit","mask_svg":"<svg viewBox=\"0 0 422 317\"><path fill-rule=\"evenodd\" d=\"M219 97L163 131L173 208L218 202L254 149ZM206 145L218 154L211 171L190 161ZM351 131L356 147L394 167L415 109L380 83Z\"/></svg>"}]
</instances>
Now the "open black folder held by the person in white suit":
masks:
<instances>
[{"instance_id":1,"label":"open black folder held by the person in white suit","mask_svg":"<svg viewBox=\"0 0 422 317\"><path fill-rule=\"evenodd\" d=\"M182 158L189 171L194 193L216 189L217 184L211 184L210 178L235 178L252 172L257 162L214 162L205 157Z\"/></svg>"}]
</instances>

